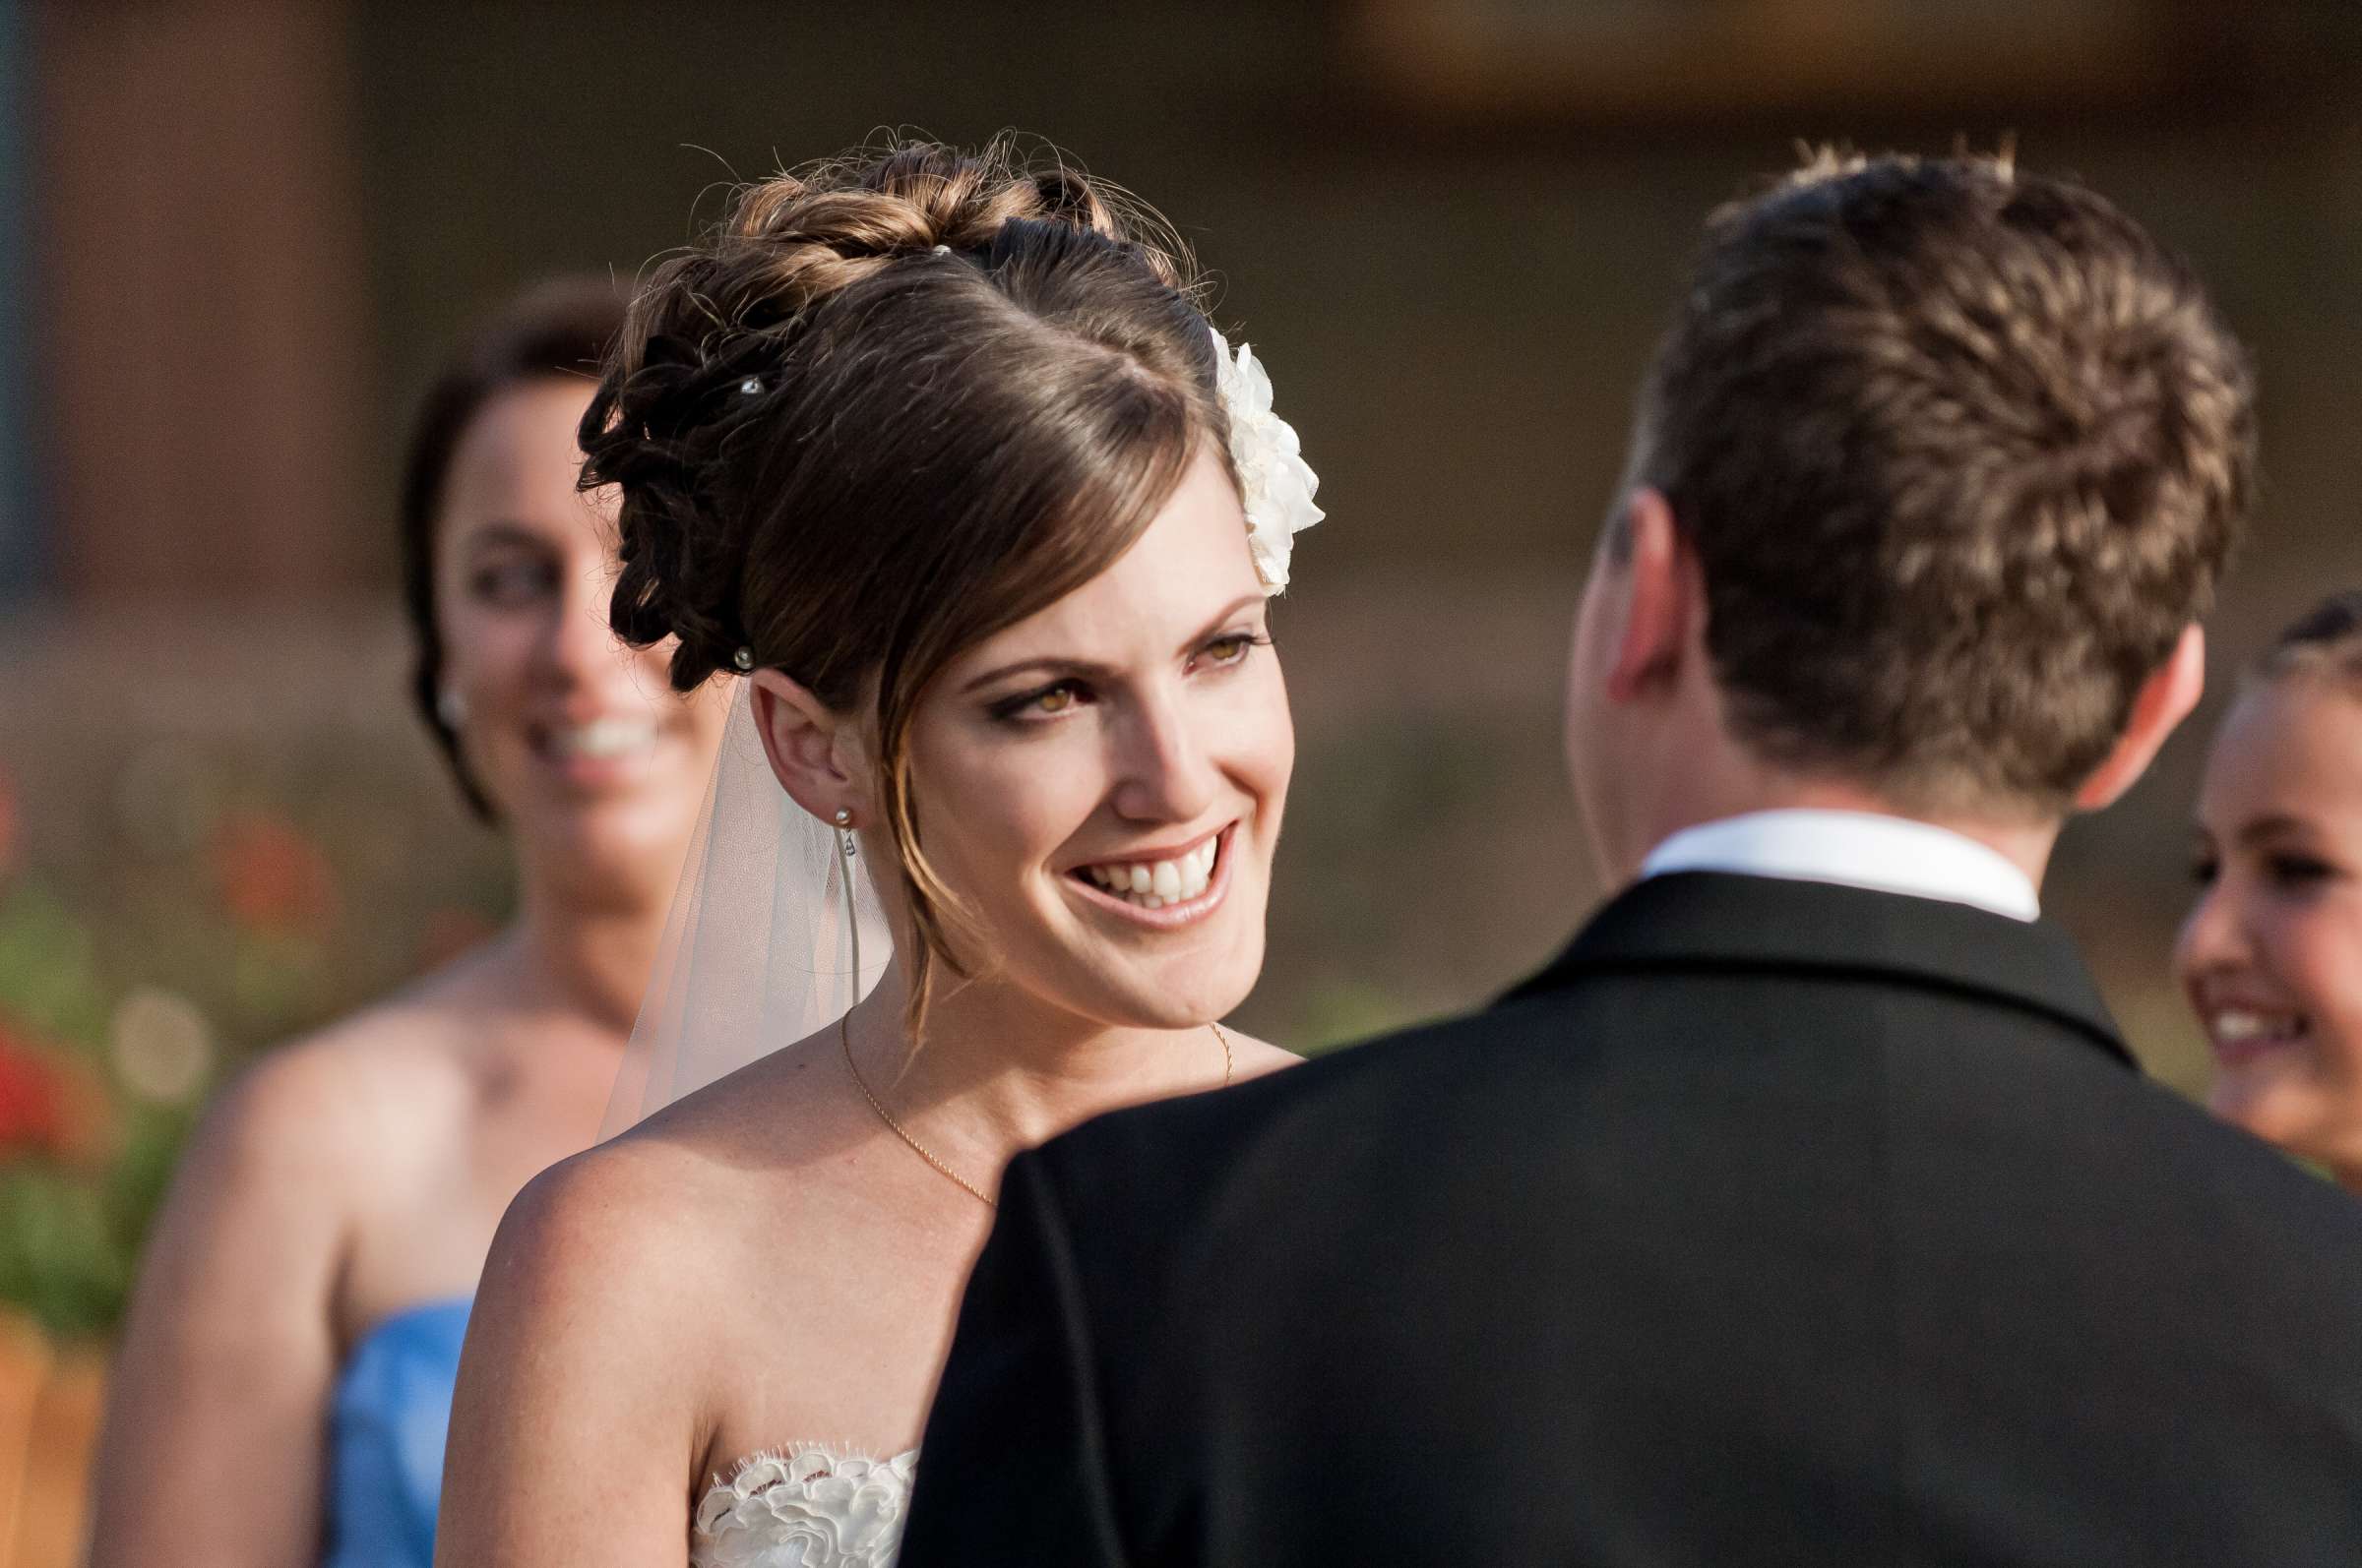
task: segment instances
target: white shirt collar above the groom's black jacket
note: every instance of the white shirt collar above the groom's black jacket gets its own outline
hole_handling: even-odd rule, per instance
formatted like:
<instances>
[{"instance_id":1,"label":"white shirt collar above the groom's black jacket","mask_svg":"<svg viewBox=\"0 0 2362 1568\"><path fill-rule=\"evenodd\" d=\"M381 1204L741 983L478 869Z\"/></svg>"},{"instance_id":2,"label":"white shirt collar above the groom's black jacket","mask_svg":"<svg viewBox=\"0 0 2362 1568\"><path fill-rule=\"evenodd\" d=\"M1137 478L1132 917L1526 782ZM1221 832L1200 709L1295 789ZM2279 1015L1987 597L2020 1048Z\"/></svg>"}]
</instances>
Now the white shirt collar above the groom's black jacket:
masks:
<instances>
[{"instance_id":1,"label":"white shirt collar above the groom's black jacket","mask_svg":"<svg viewBox=\"0 0 2362 1568\"><path fill-rule=\"evenodd\" d=\"M2012 921L2041 916L2034 881L1998 850L1932 822L1875 812L1776 810L1701 822L1665 838L1639 867L1644 878L1668 871L1826 881L1975 904Z\"/></svg>"}]
</instances>

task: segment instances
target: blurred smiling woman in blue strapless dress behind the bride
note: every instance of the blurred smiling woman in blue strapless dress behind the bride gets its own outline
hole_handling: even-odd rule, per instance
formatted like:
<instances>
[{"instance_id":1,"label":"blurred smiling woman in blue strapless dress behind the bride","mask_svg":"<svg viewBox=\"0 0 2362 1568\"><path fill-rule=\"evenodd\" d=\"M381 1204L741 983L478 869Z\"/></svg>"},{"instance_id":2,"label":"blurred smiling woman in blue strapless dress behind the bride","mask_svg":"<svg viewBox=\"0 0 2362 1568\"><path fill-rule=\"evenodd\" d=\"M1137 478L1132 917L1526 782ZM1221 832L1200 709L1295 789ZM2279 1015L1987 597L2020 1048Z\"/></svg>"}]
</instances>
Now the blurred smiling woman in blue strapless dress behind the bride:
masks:
<instances>
[{"instance_id":1,"label":"blurred smiling woman in blue strapless dress behind the bride","mask_svg":"<svg viewBox=\"0 0 2362 1568\"><path fill-rule=\"evenodd\" d=\"M607 628L614 498L579 491L574 430L621 321L609 286L553 283L425 399L402 491L416 699L508 834L517 919L215 1105L116 1363L99 1568L430 1561L484 1254L600 1124L725 716Z\"/></svg>"}]
</instances>

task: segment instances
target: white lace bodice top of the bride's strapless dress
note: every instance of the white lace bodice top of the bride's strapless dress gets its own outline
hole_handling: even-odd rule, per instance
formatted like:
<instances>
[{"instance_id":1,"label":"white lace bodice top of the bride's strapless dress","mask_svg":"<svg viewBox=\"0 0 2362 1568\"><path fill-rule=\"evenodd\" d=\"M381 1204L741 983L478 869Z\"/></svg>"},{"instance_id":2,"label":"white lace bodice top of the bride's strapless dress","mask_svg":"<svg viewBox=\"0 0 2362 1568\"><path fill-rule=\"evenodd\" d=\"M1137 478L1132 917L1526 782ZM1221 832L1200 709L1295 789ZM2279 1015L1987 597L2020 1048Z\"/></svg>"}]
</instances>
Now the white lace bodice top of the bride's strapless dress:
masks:
<instances>
[{"instance_id":1,"label":"white lace bodice top of the bride's strapless dress","mask_svg":"<svg viewBox=\"0 0 2362 1568\"><path fill-rule=\"evenodd\" d=\"M690 1568L893 1568L919 1450L893 1459L801 1443L739 1462L697 1502Z\"/></svg>"}]
</instances>

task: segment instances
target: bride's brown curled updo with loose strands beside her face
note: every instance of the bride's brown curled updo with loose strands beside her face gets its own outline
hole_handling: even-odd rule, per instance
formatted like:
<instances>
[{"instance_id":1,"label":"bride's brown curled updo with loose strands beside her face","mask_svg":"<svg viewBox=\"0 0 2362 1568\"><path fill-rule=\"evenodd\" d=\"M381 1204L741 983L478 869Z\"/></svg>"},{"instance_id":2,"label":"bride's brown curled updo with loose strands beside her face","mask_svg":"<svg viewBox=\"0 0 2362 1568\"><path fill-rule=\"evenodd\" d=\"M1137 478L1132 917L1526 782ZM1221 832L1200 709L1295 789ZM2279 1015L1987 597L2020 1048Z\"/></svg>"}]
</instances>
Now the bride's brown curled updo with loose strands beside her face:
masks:
<instances>
[{"instance_id":1,"label":"bride's brown curled updo with loose strands beside her face","mask_svg":"<svg viewBox=\"0 0 2362 1568\"><path fill-rule=\"evenodd\" d=\"M624 496L616 635L678 638L683 692L744 647L869 704L914 1025L980 933L921 850L912 716L1131 548L1200 449L1228 463L1193 295L1172 229L1056 153L857 151L659 264L583 416L583 484Z\"/></svg>"}]
</instances>

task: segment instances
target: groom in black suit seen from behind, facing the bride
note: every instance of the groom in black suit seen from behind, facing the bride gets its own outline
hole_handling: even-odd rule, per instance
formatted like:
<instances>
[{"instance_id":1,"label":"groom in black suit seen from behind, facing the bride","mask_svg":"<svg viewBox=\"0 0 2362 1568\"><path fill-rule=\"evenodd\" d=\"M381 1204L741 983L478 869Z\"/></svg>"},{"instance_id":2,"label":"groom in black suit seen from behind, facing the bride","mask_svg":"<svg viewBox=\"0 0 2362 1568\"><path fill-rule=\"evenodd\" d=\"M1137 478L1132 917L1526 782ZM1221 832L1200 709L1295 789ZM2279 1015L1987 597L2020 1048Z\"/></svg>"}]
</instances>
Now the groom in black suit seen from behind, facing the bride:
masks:
<instances>
[{"instance_id":1,"label":"groom in black suit seen from behind, facing the bride","mask_svg":"<svg viewBox=\"0 0 2362 1568\"><path fill-rule=\"evenodd\" d=\"M1720 213L1575 628L1623 893L1474 1018L1018 1157L907 1568L2362 1561L2362 1214L2038 921L2251 470L2081 187Z\"/></svg>"}]
</instances>

